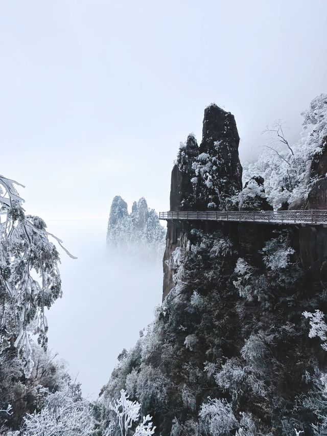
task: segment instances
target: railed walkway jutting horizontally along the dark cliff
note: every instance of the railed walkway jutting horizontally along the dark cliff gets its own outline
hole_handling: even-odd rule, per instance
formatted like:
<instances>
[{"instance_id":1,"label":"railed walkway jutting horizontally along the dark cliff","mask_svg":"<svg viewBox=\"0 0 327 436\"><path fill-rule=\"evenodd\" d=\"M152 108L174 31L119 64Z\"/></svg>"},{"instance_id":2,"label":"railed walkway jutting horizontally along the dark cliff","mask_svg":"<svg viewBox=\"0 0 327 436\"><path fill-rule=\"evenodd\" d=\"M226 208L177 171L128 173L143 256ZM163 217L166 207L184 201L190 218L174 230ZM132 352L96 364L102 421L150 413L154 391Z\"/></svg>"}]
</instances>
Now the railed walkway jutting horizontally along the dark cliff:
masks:
<instances>
[{"instance_id":1,"label":"railed walkway jutting horizontally along the dark cliff","mask_svg":"<svg viewBox=\"0 0 327 436\"><path fill-rule=\"evenodd\" d=\"M159 212L162 220L240 221L265 224L327 225L327 210Z\"/></svg>"}]
</instances>

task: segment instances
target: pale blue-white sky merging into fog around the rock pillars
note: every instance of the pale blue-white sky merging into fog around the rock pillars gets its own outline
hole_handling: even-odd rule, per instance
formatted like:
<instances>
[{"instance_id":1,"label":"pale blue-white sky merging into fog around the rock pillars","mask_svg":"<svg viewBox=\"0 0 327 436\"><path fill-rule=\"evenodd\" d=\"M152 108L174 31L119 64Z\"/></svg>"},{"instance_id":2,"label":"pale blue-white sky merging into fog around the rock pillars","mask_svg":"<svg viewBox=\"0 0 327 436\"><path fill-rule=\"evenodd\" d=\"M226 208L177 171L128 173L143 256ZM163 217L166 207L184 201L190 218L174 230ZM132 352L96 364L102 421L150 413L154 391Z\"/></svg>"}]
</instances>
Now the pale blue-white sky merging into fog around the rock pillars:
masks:
<instances>
[{"instance_id":1,"label":"pale blue-white sky merging into fog around the rock pillars","mask_svg":"<svg viewBox=\"0 0 327 436\"><path fill-rule=\"evenodd\" d=\"M203 110L213 102L236 117L241 162L260 153L261 133L276 119L296 141L300 112L327 91L326 19L325 0L0 2L0 173L26 186L19 192L27 212L78 256L61 251L64 297L49 314L49 335L87 392L160 302L157 266L130 271L143 281L132 294L124 266L105 257L112 198L131 205L145 196L168 210L179 143L190 132L201 141ZM104 302L99 313L94 295ZM85 319L101 334L86 335ZM64 334L69 328L73 336ZM82 369L79 331L92 344ZM88 380L100 360L106 368Z\"/></svg>"}]
</instances>

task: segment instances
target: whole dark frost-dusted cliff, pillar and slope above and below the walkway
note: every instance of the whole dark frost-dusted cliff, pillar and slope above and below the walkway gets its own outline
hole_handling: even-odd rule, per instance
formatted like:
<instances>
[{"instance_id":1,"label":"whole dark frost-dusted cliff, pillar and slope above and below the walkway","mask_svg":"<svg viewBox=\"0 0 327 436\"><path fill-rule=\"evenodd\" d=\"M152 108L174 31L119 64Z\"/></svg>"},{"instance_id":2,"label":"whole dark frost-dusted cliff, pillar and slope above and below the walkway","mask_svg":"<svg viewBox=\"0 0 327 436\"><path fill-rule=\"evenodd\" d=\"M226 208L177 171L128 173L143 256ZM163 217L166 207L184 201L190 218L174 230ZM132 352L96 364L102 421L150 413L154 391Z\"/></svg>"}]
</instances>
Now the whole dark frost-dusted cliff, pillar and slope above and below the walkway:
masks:
<instances>
[{"instance_id":1,"label":"whole dark frost-dusted cliff, pillar and slope above and below the walkway","mask_svg":"<svg viewBox=\"0 0 327 436\"><path fill-rule=\"evenodd\" d=\"M231 114L211 106L203 126L178 152L171 209L271 209L262 178L241 191ZM166 242L164 302L103 397L125 387L162 436L327 434L327 230L174 220Z\"/></svg>"}]
</instances>

